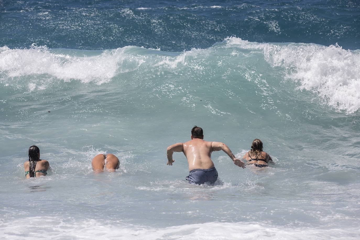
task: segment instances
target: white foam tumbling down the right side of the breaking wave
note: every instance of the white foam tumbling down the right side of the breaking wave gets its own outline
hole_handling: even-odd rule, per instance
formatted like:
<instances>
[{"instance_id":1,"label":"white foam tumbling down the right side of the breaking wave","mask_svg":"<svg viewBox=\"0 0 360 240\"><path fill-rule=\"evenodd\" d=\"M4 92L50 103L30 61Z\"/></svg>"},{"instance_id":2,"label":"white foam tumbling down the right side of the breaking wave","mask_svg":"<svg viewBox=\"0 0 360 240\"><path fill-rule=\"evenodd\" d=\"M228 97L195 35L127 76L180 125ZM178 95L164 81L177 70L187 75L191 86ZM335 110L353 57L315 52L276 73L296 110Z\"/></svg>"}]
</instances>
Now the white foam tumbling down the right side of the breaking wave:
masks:
<instances>
[{"instance_id":1,"label":"white foam tumbling down the right side of the breaking wave","mask_svg":"<svg viewBox=\"0 0 360 240\"><path fill-rule=\"evenodd\" d=\"M338 45L269 44L248 42L236 37L228 46L263 50L273 67L285 69L285 77L300 82L300 89L316 93L328 105L354 113L360 108L360 53Z\"/></svg>"}]
</instances>

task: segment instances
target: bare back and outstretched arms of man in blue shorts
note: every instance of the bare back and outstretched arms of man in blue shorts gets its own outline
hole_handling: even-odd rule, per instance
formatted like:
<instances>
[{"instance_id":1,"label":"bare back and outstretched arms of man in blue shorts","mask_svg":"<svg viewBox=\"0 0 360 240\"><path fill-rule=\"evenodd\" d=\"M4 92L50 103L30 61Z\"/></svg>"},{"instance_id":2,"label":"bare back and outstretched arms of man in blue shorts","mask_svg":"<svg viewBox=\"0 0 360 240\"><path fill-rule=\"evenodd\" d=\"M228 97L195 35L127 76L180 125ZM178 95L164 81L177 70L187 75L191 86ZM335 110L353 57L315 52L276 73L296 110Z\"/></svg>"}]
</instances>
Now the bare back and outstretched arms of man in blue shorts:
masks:
<instances>
[{"instance_id":1,"label":"bare back and outstretched arms of man in blue shorts","mask_svg":"<svg viewBox=\"0 0 360 240\"><path fill-rule=\"evenodd\" d=\"M189 171L194 169L210 169L214 167L214 163L211 160L211 153L213 151L224 151L233 160L234 164L245 168L245 163L237 159L231 152L228 146L222 142L208 142L204 141L204 135L201 138L194 138L191 136L191 140L187 142L179 142L171 145L167 148L167 160L166 165L172 166L175 162L172 159L174 152L183 152L189 163Z\"/></svg>"}]
</instances>

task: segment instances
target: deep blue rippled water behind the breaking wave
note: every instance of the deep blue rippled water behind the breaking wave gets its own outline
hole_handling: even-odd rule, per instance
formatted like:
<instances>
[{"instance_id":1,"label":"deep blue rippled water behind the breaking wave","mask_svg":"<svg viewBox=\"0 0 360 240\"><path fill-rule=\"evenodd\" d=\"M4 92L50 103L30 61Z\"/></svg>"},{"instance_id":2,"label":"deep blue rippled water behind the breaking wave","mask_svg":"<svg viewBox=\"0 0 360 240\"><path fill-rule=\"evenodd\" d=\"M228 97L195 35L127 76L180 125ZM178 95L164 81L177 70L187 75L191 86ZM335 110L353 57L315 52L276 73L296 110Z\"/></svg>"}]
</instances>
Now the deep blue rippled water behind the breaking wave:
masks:
<instances>
[{"instance_id":1,"label":"deep blue rippled water behind the breaking wave","mask_svg":"<svg viewBox=\"0 0 360 240\"><path fill-rule=\"evenodd\" d=\"M348 0L1 1L0 45L183 51L236 36L360 49L359 9Z\"/></svg>"}]
</instances>

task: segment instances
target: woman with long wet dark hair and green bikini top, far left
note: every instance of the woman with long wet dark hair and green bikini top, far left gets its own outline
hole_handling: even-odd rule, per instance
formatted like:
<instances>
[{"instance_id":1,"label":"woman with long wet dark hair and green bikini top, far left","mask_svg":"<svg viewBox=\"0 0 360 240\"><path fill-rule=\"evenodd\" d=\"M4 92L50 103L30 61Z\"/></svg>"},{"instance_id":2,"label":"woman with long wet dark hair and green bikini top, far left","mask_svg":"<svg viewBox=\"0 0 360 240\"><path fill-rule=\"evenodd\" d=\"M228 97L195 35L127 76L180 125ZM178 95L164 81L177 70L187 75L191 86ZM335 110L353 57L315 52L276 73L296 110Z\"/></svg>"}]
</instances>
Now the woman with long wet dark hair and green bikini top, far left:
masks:
<instances>
[{"instance_id":1,"label":"woman with long wet dark hair and green bikini top, far left","mask_svg":"<svg viewBox=\"0 0 360 240\"><path fill-rule=\"evenodd\" d=\"M40 159L40 149L33 145L29 148L29 160L24 163L25 177L40 177L48 174L50 164Z\"/></svg>"}]
</instances>

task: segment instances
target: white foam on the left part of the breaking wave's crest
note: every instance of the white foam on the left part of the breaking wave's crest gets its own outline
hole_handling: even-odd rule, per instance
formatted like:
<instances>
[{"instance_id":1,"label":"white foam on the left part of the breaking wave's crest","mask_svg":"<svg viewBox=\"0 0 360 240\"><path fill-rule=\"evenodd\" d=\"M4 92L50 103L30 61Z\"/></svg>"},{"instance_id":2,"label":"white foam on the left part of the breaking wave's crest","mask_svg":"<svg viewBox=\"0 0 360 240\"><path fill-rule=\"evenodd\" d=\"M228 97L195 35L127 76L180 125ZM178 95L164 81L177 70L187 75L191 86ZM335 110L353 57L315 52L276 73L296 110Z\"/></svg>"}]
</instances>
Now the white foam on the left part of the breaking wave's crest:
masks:
<instances>
[{"instance_id":1,"label":"white foam on the left part of the breaking wave's crest","mask_svg":"<svg viewBox=\"0 0 360 240\"><path fill-rule=\"evenodd\" d=\"M77 79L102 84L119 72L131 71L141 64L138 59L124 54L127 48L103 51L97 56L70 56L51 53L46 47L9 49L4 46L0 48L0 72L6 72L12 78L48 74L64 81ZM28 87L33 91L37 85L31 82Z\"/></svg>"}]
</instances>

